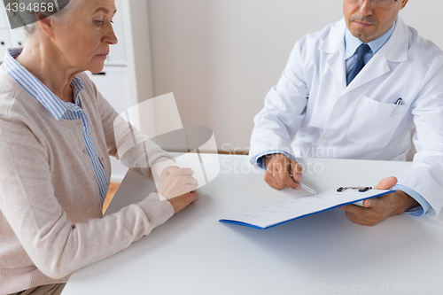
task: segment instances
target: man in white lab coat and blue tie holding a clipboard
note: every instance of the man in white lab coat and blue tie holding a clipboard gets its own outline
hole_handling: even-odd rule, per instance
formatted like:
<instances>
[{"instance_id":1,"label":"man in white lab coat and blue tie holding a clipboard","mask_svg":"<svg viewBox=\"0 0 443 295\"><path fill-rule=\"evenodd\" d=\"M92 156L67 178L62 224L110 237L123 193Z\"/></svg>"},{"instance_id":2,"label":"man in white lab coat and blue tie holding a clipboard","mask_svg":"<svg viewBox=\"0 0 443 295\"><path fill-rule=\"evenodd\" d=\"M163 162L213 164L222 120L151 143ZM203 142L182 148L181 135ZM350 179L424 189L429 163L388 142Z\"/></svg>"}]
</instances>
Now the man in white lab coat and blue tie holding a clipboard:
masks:
<instances>
[{"instance_id":1,"label":"man in white lab coat and blue tie holding a clipboard","mask_svg":"<svg viewBox=\"0 0 443 295\"><path fill-rule=\"evenodd\" d=\"M439 214L443 54L400 19L406 4L344 0L345 19L295 44L254 118L251 162L267 169L271 187L299 189L289 177L291 169L301 180L298 157L405 160L416 127L413 166L377 186L397 192L342 209L364 225L404 212Z\"/></svg>"}]
</instances>

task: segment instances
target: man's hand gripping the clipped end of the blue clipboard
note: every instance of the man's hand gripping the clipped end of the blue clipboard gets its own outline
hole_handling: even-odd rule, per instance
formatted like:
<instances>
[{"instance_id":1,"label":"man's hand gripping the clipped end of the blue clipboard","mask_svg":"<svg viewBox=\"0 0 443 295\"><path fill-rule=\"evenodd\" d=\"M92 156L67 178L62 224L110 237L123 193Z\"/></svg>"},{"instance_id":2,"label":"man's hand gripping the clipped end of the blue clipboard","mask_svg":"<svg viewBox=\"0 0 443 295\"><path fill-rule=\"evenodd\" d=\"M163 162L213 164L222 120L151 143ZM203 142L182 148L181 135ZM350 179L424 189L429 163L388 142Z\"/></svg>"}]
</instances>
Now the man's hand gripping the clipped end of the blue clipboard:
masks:
<instances>
[{"instance_id":1,"label":"man's hand gripping the clipped end of the blue clipboard","mask_svg":"<svg viewBox=\"0 0 443 295\"><path fill-rule=\"evenodd\" d=\"M389 190L397 184L397 178L387 177L381 180L375 190ZM363 207L347 205L340 207L346 211L346 216L353 222L362 225L374 226L392 215L404 213L410 208L418 206L416 199L406 192L397 190L379 198L370 198L363 201Z\"/></svg>"}]
</instances>

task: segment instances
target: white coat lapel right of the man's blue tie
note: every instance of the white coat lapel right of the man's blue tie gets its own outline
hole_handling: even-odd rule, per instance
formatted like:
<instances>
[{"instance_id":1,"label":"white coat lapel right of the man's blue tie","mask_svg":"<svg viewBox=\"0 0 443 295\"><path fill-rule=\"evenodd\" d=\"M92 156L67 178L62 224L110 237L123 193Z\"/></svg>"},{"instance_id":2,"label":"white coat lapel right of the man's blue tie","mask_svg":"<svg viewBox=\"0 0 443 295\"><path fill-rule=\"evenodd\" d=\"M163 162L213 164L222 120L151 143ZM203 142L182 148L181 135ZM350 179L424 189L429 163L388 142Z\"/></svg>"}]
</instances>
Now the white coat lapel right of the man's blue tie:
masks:
<instances>
[{"instance_id":1,"label":"white coat lapel right of the man's blue tie","mask_svg":"<svg viewBox=\"0 0 443 295\"><path fill-rule=\"evenodd\" d=\"M408 59L408 27L400 17L397 18L395 29L391 38L377 51L368 65L363 69L354 81L345 90L345 93L361 87L378 77L391 71L389 62L401 62Z\"/></svg>"}]
</instances>

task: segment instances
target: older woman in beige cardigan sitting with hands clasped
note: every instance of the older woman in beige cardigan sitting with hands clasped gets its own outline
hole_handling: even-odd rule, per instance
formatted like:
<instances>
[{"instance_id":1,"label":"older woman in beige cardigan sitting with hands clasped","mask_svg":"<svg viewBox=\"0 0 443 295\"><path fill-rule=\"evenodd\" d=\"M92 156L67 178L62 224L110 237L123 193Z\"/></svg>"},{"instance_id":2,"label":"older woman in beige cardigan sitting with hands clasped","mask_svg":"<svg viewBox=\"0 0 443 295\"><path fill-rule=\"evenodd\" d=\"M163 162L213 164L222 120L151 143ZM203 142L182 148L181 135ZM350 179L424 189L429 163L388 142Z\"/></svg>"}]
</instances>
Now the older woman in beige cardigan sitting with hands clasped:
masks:
<instances>
[{"instance_id":1,"label":"older woman in beige cardigan sitting with hands clasped","mask_svg":"<svg viewBox=\"0 0 443 295\"><path fill-rule=\"evenodd\" d=\"M109 155L127 143L114 136L118 114L82 72L103 69L117 43L115 12L113 0L71 0L50 17L36 12L25 47L9 50L0 66L2 295L59 294L74 270L122 251L198 200L192 170L172 162L159 193L102 215ZM140 170L149 176L171 157L145 143L147 154L134 147L122 161L147 157Z\"/></svg>"}]
</instances>

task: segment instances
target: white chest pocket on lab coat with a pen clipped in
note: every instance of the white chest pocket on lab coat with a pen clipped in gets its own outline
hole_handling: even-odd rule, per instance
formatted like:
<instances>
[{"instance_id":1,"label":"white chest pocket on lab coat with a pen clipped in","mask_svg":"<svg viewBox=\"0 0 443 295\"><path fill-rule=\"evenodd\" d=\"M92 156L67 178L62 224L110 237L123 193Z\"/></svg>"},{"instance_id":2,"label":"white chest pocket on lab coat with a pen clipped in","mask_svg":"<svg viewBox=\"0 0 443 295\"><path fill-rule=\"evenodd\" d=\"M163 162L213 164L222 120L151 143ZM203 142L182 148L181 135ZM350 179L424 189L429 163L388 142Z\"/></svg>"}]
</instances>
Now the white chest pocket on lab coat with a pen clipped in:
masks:
<instances>
[{"instance_id":1,"label":"white chest pocket on lab coat with a pen clipped in","mask_svg":"<svg viewBox=\"0 0 443 295\"><path fill-rule=\"evenodd\" d=\"M361 98L347 138L369 148L383 148L391 140L405 112L405 105L385 104Z\"/></svg>"}]
</instances>

